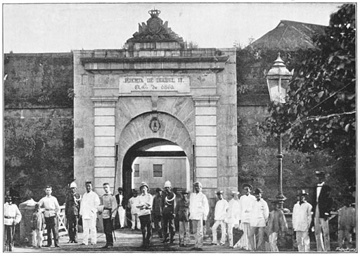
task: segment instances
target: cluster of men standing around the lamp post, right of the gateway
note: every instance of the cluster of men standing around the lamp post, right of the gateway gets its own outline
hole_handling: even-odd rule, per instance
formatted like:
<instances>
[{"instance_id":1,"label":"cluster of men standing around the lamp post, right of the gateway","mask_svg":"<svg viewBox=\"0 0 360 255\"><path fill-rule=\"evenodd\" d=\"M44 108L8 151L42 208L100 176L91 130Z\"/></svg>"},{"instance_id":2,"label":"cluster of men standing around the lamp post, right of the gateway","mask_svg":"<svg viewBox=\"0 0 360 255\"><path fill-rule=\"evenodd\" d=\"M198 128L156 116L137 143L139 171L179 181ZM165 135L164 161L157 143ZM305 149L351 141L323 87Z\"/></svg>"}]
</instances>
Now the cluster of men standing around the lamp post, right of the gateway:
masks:
<instances>
[{"instance_id":1,"label":"cluster of men standing around the lamp post, right of the gateway","mask_svg":"<svg viewBox=\"0 0 360 255\"><path fill-rule=\"evenodd\" d=\"M296 232L296 242L299 251L310 251L309 229L314 218L314 231L316 237L317 251L330 251L330 235L328 218L333 204L330 197L330 187L325 183L325 173L316 171L316 178L319 183L316 185L316 205L313 207L307 202L308 193L304 189L297 192L297 203L293 208L293 230ZM223 192L218 191L217 204L214 210L214 225L212 226L212 244L224 245L226 241L226 228L228 231L229 247L240 248L247 251L278 251L278 235L284 235L288 231L283 210L280 208L280 201L271 201L273 210L269 212L269 206L262 199L262 189L255 189L255 196L251 194L252 186L243 185L243 196L238 199L239 192L231 192L232 199L229 203L224 199ZM339 225L340 241L347 242L349 237L349 220L345 216L350 213L354 215L354 210L348 206L339 210L344 227ZM354 218L354 217L353 217ZM340 219L339 219L340 220ZM354 221L354 220L352 220ZM217 229L221 227L221 240L217 243ZM242 230L240 240L233 244L233 229ZM257 241L257 242L256 242ZM266 249L266 242L269 244Z\"/></svg>"}]
</instances>

